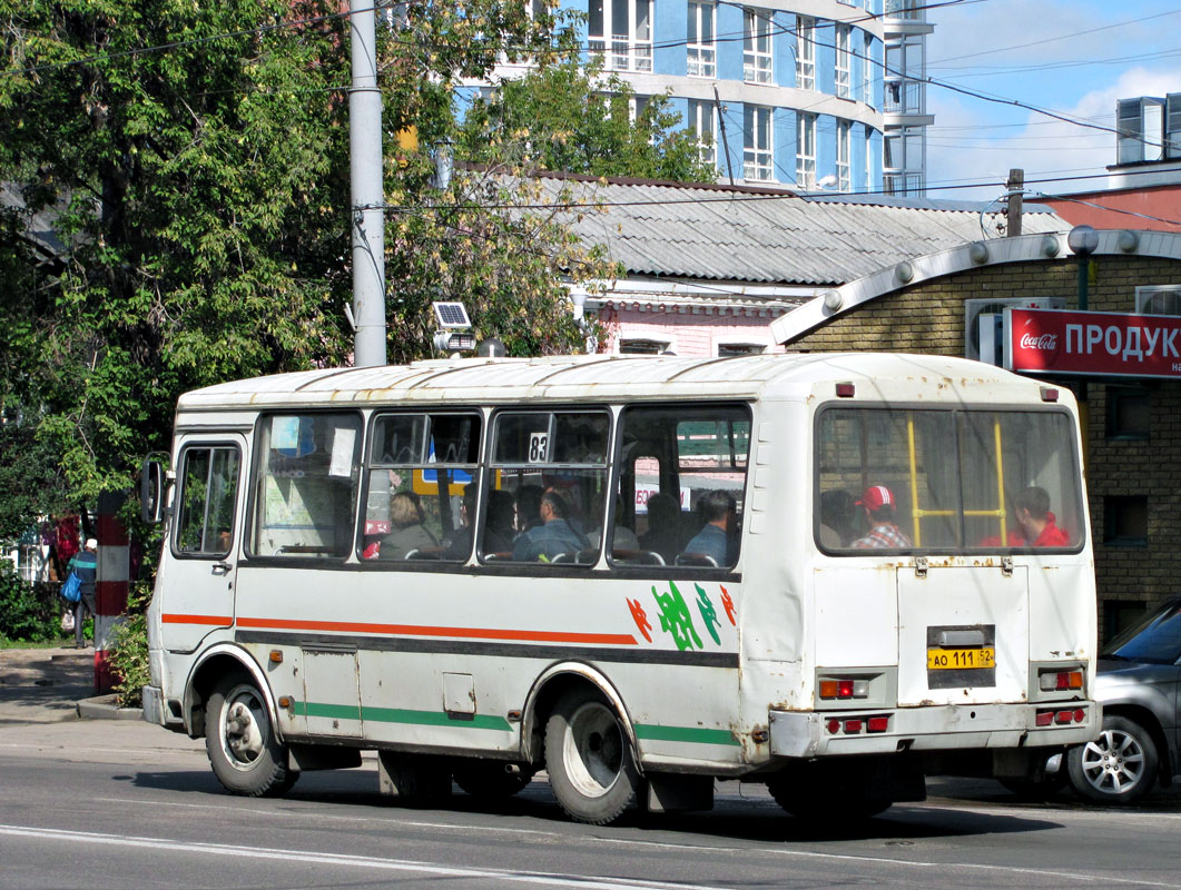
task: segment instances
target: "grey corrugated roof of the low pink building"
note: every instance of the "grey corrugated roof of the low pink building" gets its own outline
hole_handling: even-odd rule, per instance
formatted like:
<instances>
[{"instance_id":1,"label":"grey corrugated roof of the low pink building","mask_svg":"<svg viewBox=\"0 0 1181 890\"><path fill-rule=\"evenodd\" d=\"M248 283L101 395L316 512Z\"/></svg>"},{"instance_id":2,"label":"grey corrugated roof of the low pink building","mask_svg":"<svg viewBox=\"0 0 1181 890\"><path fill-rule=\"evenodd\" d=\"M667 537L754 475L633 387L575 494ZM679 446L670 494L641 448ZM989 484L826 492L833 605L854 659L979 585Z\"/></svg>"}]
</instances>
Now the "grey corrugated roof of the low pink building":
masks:
<instances>
[{"instance_id":1,"label":"grey corrugated roof of the low pink building","mask_svg":"<svg viewBox=\"0 0 1181 890\"><path fill-rule=\"evenodd\" d=\"M557 201L585 204L569 224L605 244L633 275L842 284L901 260L996 236L996 202L798 197L791 192L668 183L542 179ZM987 235L981 233L981 211ZM1062 217L1026 205L1024 231L1065 231Z\"/></svg>"}]
</instances>

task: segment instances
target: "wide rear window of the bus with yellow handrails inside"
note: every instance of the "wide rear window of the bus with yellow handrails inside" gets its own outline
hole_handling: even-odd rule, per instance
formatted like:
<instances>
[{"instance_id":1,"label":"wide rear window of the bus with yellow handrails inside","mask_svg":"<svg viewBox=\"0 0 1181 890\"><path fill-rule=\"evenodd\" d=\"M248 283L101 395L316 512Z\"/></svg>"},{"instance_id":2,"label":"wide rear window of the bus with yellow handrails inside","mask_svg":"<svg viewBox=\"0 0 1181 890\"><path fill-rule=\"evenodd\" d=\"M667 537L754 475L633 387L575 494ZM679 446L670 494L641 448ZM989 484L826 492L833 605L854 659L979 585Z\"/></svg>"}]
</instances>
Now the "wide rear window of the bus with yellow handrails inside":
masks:
<instances>
[{"instance_id":1,"label":"wide rear window of the bus with yellow handrails inside","mask_svg":"<svg viewBox=\"0 0 1181 890\"><path fill-rule=\"evenodd\" d=\"M1082 545L1064 412L829 408L816 462L816 541L828 551Z\"/></svg>"}]
</instances>

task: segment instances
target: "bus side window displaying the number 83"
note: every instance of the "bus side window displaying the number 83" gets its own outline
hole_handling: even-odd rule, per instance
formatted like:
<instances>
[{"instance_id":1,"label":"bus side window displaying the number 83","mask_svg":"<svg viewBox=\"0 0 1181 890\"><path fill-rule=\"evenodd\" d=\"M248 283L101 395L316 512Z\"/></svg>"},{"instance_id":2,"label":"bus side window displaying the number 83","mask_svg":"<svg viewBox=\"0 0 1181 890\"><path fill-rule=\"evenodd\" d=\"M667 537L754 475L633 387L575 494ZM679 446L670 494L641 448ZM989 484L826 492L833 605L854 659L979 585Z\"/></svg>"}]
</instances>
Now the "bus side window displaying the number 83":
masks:
<instances>
[{"instance_id":1,"label":"bus side window displaying the number 83","mask_svg":"<svg viewBox=\"0 0 1181 890\"><path fill-rule=\"evenodd\" d=\"M483 557L593 564L592 541L601 537L605 518L609 434L611 418L602 411L497 414Z\"/></svg>"}]
</instances>

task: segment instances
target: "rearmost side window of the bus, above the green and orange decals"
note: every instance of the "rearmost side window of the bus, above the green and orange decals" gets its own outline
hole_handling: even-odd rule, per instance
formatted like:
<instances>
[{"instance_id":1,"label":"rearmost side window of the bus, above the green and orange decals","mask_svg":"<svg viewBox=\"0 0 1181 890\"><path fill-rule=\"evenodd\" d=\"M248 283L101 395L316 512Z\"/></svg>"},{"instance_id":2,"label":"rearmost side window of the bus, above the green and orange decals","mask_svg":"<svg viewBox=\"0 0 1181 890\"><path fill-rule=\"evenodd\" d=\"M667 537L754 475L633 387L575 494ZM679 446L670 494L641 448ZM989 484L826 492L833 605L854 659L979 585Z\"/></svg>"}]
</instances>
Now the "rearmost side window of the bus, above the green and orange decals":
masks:
<instances>
[{"instance_id":1,"label":"rearmost side window of the bus, above the green and orange decals","mask_svg":"<svg viewBox=\"0 0 1181 890\"><path fill-rule=\"evenodd\" d=\"M631 407L621 438L612 562L733 565L750 451L746 407Z\"/></svg>"}]
</instances>

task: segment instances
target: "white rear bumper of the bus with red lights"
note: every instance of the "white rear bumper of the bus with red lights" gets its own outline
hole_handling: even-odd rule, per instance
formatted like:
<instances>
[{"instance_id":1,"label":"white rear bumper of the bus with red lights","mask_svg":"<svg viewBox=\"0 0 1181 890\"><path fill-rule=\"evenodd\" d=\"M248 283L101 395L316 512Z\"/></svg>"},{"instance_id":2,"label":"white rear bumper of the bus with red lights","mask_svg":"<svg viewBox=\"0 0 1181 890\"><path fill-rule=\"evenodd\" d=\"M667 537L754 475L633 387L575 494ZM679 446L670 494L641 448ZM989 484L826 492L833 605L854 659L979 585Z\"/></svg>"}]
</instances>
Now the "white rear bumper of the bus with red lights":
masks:
<instances>
[{"instance_id":1,"label":"white rear bumper of the bus with red lights","mask_svg":"<svg viewBox=\"0 0 1181 890\"><path fill-rule=\"evenodd\" d=\"M1052 712L1051 722L1039 726L1046 712ZM1091 701L931 705L874 712L771 711L769 719L771 755L798 758L1077 745L1095 738L1101 709Z\"/></svg>"}]
</instances>

